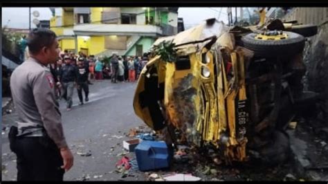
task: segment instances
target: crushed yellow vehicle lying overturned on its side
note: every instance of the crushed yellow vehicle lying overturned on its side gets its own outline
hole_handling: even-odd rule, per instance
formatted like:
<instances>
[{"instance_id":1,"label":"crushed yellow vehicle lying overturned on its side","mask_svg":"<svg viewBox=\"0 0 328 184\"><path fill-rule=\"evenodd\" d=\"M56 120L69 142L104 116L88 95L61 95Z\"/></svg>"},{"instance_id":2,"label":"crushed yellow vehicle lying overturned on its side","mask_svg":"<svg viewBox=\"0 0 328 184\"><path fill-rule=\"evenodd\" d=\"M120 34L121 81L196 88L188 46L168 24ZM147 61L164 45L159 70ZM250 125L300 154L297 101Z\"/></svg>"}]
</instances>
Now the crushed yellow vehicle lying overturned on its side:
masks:
<instances>
[{"instance_id":1,"label":"crushed yellow vehicle lying overturned on its side","mask_svg":"<svg viewBox=\"0 0 328 184\"><path fill-rule=\"evenodd\" d=\"M252 153L280 163L289 153L284 129L304 102L304 42L298 33L216 19L159 38L138 79L134 111L168 145L214 147L227 164Z\"/></svg>"}]
</instances>

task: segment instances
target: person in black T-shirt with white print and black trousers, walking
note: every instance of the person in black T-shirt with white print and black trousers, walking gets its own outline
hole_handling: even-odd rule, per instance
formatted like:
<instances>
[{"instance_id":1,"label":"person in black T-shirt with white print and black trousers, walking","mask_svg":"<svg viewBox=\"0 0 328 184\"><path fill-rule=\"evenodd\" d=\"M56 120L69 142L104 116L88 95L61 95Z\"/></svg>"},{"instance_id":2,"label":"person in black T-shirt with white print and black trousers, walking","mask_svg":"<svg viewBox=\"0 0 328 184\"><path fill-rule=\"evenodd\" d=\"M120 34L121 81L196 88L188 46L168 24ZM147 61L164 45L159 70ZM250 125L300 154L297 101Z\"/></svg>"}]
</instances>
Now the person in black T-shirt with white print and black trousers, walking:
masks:
<instances>
[{"instance_id":1,"label":"person in black T-shirt with white print and black trousers, walking","mask_svg":"<svg viewBox=\"0 0 328 184\"><path fill-rule=\"evenodd\" d=\"M85 101L88 102L89 98L89 86L88 86L88 76L89 76L89 67L84 65L84 58L79 57L78 59L78 78L77 78L77 89L78 89L78 96L80 100L80 105L83 103L83 96L82 96L82 89L85 95Z\"/></svg>"}]
</instances>

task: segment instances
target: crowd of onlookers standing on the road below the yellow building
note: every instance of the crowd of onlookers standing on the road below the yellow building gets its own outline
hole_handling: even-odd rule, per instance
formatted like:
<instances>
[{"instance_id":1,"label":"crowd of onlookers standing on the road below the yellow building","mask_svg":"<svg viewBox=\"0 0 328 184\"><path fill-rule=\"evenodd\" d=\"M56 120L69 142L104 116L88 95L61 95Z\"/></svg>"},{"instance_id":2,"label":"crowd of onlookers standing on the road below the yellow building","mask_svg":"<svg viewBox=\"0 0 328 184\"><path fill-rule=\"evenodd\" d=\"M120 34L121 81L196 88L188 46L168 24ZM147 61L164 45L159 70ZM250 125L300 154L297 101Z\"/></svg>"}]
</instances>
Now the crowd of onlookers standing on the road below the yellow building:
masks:
<instances>
[{"instance_id":1,"label":"crowd of onlookers standing on the road below the yellow building","mask_svg":"<svg viewBox=\"0 0 328 184\"><path fill-rule=\"evenodd\" d=\"M50 70L56 83L57 99L66 100L68 111L72 107L73 89L78 89L80 104L89 101L89 84L96 80L110 79L113 83L134 82L147 64L148 57L129 57L111 55L109 59L86 56L83 53L75 55L73 52L64 51ZM107 61L107 62L105 62ZM84 91L84 100L82 96Z\"/></svg>"}]
</instances>

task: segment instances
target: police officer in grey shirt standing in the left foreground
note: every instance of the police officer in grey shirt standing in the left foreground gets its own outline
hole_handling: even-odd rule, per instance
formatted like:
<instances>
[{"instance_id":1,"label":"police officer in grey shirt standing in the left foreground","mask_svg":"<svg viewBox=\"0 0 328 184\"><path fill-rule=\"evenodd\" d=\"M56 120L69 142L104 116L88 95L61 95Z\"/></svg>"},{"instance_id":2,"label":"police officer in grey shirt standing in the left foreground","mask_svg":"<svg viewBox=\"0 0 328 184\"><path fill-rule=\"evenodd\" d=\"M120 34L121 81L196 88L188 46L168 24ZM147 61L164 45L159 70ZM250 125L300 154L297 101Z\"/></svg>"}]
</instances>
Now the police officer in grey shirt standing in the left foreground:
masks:
<instances>
[{"instance_id":1,"label":"police officer in grey shirt standing in the left foreground","mask_svg":"<svg viewBox=\"0 0 328 184\"><path fill-rule=\"evenodd\" d=\"M47 65L58 59L55 33L46 28L30 31L30 57L12 73L10 88L19 116L18 134L10 136L17 155L17 180L62 181L73 165L61 113L55 99L55 80Z\"/></svg>"}]
</instances>

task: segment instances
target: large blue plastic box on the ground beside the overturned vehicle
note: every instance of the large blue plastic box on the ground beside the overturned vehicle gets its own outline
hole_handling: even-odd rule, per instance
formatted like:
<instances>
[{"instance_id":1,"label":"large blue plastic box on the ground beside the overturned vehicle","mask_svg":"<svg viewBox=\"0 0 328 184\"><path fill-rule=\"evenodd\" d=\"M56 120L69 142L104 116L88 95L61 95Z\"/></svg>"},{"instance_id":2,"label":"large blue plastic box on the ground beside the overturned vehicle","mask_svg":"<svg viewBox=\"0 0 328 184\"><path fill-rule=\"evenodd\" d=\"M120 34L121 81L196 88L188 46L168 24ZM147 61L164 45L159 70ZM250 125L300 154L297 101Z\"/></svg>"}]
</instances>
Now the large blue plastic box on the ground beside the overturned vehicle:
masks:
<instances>
[{"instance_id":1,"label":"large blue plastic box on the ground beside the overturned vehicle","mask_svg":"<svg viewBox=\"0 0 328 184\"><path fill-rule=\"evenodd\" d=\"M140 171L170 167L170 155L164 141L143 140L134 152Z\"/></svg>"}]
</instances>

